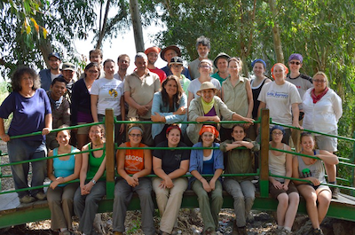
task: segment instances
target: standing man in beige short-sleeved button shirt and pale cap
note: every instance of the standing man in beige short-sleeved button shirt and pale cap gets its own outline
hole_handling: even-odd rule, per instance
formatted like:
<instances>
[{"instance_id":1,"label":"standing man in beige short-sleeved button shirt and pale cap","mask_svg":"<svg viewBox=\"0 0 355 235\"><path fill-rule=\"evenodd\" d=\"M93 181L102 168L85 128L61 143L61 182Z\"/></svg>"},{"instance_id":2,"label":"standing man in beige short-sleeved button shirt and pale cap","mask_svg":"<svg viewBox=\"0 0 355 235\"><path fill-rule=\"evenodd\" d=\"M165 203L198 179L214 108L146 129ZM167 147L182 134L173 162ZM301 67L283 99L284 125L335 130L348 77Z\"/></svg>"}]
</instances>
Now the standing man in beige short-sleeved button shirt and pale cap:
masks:
<instances>
[{"instance_id":1,"label":"standing man in beige short-sleeved button shirt and pale cap","mask_svg":"<svg viewBox=\"0 0 355 235\"><path fill-rule=\"evenodd\" d=\"M147 68L146 54L138 52L134 64L137 70L124 80L124 99L129 105L128 117L139 121L151 121L151 109L154 93L160 90L159 76ZM143 143L154 145L152 137L152 124L144 125Z\"/></svg>"}]
</instances>

